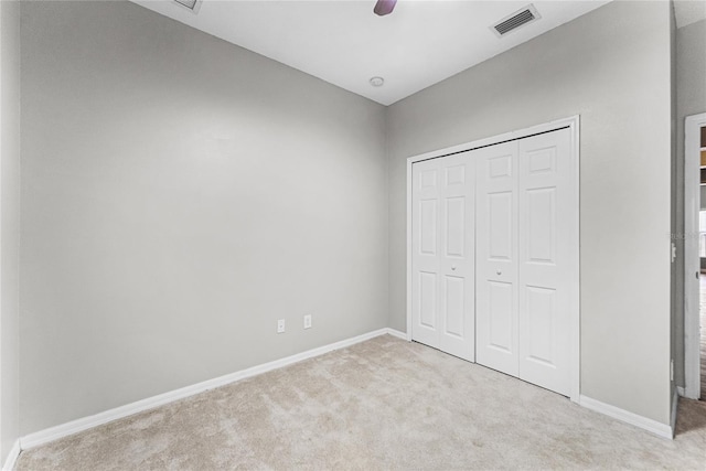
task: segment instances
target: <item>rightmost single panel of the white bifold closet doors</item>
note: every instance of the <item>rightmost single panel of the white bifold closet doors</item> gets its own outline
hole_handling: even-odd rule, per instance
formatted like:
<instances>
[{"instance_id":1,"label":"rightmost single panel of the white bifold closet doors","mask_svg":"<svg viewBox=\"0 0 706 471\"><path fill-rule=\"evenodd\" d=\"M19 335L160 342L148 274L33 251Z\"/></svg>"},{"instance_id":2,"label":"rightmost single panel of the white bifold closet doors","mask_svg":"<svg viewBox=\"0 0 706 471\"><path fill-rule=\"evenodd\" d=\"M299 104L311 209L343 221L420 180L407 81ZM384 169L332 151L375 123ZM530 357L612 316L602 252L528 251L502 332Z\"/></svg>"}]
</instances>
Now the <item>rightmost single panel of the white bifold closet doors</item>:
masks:
<instances>
[{"instance_id":1,"label":"rightmost single panel of the white bifold closet doors","mask_svg":"<svg viewBox=\"0 0 706 471\"><path fill-rule=\"evenodd\" d=\"M571 221L570 132L518 142L520 377L570 393Z\"/></svg>"}]
</instances>

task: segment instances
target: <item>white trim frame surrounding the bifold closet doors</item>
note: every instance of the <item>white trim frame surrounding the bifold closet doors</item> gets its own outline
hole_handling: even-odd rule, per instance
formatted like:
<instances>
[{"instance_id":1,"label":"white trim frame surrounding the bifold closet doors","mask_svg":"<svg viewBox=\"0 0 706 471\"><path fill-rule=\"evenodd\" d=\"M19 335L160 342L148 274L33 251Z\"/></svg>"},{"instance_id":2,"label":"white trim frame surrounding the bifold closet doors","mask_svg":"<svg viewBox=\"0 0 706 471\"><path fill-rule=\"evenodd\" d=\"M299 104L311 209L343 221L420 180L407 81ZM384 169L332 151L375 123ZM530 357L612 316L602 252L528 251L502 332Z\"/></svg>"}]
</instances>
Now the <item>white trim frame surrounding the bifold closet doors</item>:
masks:
<instances>
[{"instance_id":1,"label":"white trim frame surrounding the bifold closet doors","mask_svg":"<svg viewBox=\"0 0 706 471\"><path fill-rule=\"evenodd\" d=\"M556 121L545 122L543 125L533 126L531 128L520 129L516 131L505 132L500 136L493 136L485 139L475 140L472 142L462 143L459 146L449 147L446 149L435 150L432 152L426 152L419 156L414 156L407 159L407 340L411 341L411 165L415 162L421 160L436 159L443 156L449 156L458 152L466 152L469 150L478 149L481 147L493 146L496 143L526 138L530 136L556 131L558 129L568 128L571 132L571 156L569 162L571 165L571 181L575 182L574 199L576 205L579 206L579 116L571 116L565 119L558 119ZM570 222L569 238L574 240L576 247L579 246L579 213L577 212L573 221ZM574 403L579 403L580 395L580 289L579 289L579 250L573 254L570 260L571 272L576 282L573 285L570 292L570 306L571 309L571 392L570 399Z\"/></svg>"}]
</instances>

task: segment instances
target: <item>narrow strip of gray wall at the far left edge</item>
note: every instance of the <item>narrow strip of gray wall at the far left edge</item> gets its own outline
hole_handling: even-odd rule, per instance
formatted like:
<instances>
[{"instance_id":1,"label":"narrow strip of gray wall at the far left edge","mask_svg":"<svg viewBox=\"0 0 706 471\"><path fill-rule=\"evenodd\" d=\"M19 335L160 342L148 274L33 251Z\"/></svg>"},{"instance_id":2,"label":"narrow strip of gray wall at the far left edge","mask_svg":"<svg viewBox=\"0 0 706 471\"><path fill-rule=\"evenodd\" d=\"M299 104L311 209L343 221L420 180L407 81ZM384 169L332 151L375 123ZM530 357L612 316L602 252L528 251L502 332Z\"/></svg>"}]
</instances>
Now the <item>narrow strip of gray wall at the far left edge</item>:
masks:
<instances>
[{"instance_id":1,"label":"narrow strip of gray wall at the far left edge","mask_svg":"<svg viewBox=\"0 0 706 471\"><path fill-rule=\"evenodd\" d=\"M19 438L20 7L0 2L0 463Z\"/></svg>"}]
</instances>

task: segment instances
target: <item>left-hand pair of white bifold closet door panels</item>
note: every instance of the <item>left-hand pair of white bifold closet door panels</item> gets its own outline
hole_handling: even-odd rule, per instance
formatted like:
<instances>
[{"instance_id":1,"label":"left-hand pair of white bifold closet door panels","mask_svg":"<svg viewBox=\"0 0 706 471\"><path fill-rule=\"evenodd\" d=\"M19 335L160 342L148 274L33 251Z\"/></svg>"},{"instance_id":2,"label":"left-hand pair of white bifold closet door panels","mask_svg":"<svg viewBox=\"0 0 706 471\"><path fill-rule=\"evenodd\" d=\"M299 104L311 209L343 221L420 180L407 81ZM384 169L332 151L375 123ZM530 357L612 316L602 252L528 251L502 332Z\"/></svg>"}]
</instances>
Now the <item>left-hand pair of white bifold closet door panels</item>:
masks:
<instances>
[{"instance_id":1,"label":"left-hand pair of white bifold closet door panels","mask_svg":"<svg viewBox=\"0 0 706 471\"><path fill-rule=\"evenodd\" d=\"M413 164L411 338L474 361L474 164L468 153Z\"/></svg>"}]
</instances>

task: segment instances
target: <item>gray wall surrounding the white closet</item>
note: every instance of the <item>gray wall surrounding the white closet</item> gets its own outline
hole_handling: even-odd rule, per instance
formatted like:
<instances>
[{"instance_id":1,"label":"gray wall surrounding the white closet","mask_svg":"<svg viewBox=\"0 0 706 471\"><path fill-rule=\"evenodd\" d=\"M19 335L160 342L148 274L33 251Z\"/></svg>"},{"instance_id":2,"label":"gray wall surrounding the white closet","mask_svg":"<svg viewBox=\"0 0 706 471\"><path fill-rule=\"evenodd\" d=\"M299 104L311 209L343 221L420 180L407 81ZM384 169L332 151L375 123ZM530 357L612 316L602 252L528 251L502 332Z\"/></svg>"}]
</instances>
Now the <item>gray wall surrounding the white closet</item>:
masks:
<instances>
[{"instance_id":1,"label":"gray wall surrounding the white closet","mask_svg":"<svg viewBox=\"0 0 706 471\"><path fill-rule=\"evenodd\" d=\"M581 394L670 420L667 2L611 2L387 109L389 324L406 325L406 159L581 116Z\"/></svg>"}]
</instances>

